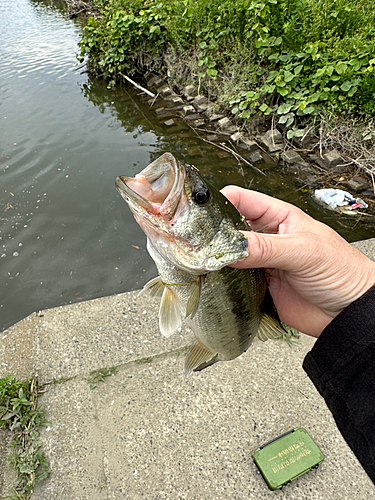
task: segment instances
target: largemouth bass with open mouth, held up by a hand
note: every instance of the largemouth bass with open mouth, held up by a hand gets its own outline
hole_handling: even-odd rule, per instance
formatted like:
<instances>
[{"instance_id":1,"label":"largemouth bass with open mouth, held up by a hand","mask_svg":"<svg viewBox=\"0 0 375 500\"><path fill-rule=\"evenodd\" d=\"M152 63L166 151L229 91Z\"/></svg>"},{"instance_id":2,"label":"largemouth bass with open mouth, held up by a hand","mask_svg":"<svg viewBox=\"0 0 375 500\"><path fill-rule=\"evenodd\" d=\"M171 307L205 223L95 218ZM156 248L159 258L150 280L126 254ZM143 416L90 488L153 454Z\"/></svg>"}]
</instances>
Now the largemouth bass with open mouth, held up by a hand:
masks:
<instances>
[{"instance_id":1,"label":"largemouth bass with open mouth, held up by a hand","mask_svg":"<svg viewBox=\"0 0 375 500\"><path fill-rule=\"evenodd\" d=\"M255 336L283 332L263 269L226 267L247 257L249 230L237 209L194 166L163 154L116 188L147 236L159 276L144 287L160 297L166 337L185 321L196 337L184 371L236 358Z\"/></svg>"}]
</instances>

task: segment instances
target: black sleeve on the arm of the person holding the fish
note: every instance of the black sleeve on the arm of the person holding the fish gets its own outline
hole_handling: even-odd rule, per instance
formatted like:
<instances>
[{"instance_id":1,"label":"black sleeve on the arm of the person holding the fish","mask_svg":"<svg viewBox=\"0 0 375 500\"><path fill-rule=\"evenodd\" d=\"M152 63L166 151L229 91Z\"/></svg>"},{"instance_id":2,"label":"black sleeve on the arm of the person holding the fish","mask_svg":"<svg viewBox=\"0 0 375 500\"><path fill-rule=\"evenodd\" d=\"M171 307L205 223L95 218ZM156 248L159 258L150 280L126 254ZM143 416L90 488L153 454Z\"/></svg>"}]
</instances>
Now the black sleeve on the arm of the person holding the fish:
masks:
<instances>
[{"instance_id":1,"label":"black sleeve on the arm of the person holding the fish","mask_svg":"<svg viewBox=\"0 0 375 500\"><path fill-rule=\"evenodd\" d=\"M375 286L323 330L303 368L375 482Z\"/></svg>"}]
</instances>

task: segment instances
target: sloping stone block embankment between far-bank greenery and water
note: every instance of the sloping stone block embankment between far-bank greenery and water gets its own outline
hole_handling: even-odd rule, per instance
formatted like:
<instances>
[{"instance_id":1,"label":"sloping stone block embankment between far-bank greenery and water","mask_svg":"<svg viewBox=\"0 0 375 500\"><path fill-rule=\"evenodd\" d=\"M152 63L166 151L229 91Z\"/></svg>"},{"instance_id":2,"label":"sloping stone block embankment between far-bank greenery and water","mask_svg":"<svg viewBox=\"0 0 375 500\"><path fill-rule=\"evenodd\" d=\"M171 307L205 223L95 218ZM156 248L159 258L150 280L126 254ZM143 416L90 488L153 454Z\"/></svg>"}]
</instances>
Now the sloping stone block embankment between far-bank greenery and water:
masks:
<instances>
[{"instance_id":1,"label":"sloping stone block embankment between far-bank greenery and water","mask_svg":"<svg viewBox=\"0 0 375 500\"><path fill-rule=\"evenodd\" d=\"M283 130L273 128L249 137L214 102L199 95L193 85L175 89L153 73L145 75L145 84L155 92L149 105L159 117L166 118L164 124L168 127L176 126L176 117L182 118L204 140L226 143L253 166L281 163L295 174L300 186L340 187L355 196L375 198L368 176L355 172L351 162L336 149L320 151L319 140L311 133L286 141Z\"/></svg>"}]
</instances>

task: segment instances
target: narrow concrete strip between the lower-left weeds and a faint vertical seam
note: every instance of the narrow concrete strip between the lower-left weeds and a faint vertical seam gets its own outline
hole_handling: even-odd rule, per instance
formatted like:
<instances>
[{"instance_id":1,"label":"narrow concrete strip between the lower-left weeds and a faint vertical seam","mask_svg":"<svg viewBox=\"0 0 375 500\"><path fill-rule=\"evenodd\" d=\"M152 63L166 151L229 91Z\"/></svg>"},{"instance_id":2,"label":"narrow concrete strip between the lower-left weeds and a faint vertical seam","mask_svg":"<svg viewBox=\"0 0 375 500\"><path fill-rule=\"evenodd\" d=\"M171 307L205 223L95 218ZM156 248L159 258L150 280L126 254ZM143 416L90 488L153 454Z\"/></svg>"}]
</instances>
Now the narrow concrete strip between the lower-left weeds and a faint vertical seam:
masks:
<instances>
[{"instance_id":1,"label":"narrow concrete strip between the lower-left weeds and a faint vertical seam","mask_svg":"<svg viewBox=\"0 0 375 500\"><path fill-rule=\"evenodd\" d=\"M48 386L40 399L51 425L41 432L51 474L34 491L37 500L107 498L103 440L86 380Z\"/></svg>"}]
</instances>

